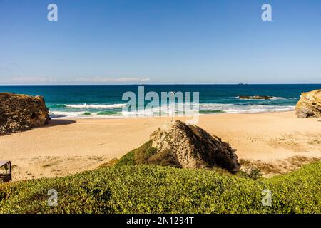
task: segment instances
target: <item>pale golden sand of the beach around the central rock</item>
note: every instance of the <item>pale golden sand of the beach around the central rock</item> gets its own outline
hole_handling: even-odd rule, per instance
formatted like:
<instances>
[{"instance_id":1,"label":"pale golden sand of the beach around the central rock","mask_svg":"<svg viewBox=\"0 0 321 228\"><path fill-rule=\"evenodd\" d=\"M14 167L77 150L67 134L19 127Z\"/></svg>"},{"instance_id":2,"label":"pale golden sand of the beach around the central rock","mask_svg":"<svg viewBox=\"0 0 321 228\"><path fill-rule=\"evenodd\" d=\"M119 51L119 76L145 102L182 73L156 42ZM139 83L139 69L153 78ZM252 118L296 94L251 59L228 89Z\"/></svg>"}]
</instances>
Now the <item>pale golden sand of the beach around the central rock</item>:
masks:
<instances>
[{"instance_id":1,"label":"pale golden sand of the beach around the central rock","mask_svg":"<svg viewBox=\"0 0 321 228\"><path fill-rule=\"evenodd\" d=\"M175 118L178 119L178 118ZM23 133L0 136L0 160L13 179L56 177L92 170L146 142L170 118L56 119ZM321 118L294 112L200 115L198 125L237 149L243 164L265 176L321 160Z\"/></svg>"}]
</instances>

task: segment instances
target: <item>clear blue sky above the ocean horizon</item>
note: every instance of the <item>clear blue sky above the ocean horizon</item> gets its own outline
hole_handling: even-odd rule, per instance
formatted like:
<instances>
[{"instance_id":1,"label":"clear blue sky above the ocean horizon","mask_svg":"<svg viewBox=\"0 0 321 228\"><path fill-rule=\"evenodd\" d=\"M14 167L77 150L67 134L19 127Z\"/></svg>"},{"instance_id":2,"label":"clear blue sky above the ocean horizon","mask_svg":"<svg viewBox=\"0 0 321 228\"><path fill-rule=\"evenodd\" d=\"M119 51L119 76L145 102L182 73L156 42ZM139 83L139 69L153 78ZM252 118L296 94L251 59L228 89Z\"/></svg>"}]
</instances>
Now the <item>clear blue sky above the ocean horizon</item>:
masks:
<instances>
[{"instance_id":1,"label":"clear blue sky above the ocean horizon","mask_svg":"<svg viewBox=\"0 0 321 228\"><path fill-rule=\"evenodd\" d=\"M110 83L321 83L321 1L0 0L0 84Z\"/></svg>"}]
</instances>

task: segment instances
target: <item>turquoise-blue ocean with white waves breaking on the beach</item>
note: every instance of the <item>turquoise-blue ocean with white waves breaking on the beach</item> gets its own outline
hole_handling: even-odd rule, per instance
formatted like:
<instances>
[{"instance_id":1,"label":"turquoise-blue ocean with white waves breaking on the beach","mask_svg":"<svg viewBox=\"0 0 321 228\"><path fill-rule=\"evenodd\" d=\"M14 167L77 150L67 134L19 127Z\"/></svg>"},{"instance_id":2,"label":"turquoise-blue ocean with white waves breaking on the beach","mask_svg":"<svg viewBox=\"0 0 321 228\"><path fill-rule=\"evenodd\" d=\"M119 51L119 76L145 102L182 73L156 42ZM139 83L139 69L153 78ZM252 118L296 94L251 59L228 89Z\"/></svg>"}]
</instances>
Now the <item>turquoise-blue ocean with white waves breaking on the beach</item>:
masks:
<instances>
[{"instance_id":1,"label":"turquoise-blue ocean with white waves breaking on the beach","mask_svg":"<svg viewBox=\"0 0 321 228\"><path fill-rule=\"evenodd\" d=\"M139 85L145 94L199 92L200 113L260 113L294 110L300 93L320 89L321 84L289 85ZM42 95L51 118L122 117L123 93L138 96L138 85L108 86L0 86L0 92ZM269 95L271 100L242 100L240 95ZM193 98L193 95L192 95ZM148 103L148 101L146 102Z\"/></svg>"}]
</instances>

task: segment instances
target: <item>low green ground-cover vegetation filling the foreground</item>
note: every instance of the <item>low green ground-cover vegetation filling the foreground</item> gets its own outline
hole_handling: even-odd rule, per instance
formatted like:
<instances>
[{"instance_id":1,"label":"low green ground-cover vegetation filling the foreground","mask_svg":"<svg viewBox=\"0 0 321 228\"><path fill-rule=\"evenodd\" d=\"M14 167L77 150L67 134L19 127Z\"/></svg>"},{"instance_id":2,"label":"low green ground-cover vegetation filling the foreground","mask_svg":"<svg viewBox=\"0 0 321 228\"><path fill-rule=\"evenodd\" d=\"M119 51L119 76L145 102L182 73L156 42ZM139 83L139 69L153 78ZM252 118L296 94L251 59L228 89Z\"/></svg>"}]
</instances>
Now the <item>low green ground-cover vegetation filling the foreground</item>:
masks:
<instances>
[{"instance_id":1,"label":"low green ground-cover vegetation filling the foreground","mask_svg":"<svg viewBox=\"0 0 321 228\"><path fill-rule=\"evenodd\" d=\"M47 206L50 189L58 191L57 207ZM261 204L264 189L272 191L271 207ZM0 213L321 213L321 162L258 180L217 170L103 167L2 184Z\"/></svg>"}]
</instances>

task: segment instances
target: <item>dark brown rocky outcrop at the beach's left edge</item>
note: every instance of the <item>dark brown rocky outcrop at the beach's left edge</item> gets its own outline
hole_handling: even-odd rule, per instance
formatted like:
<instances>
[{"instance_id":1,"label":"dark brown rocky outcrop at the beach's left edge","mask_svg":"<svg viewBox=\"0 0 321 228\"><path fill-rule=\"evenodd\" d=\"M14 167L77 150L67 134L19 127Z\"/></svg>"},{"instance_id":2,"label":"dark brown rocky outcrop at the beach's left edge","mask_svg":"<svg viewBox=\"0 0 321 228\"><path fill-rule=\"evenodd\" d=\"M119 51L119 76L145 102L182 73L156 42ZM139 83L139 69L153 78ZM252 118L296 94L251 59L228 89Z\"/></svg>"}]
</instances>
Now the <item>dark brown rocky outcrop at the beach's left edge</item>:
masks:
<instances>
[{"instance_id":1,"label":"dark brown rocky outcrop at the beach's left edge","mask_svg":"<svg viewBox=\"0 0 321 228\"><path fill-rule=\"evenodd\" d=\"M0 93L0 135L29 130L49 120L43 97Z\"/></svg>"}]
</instances>

